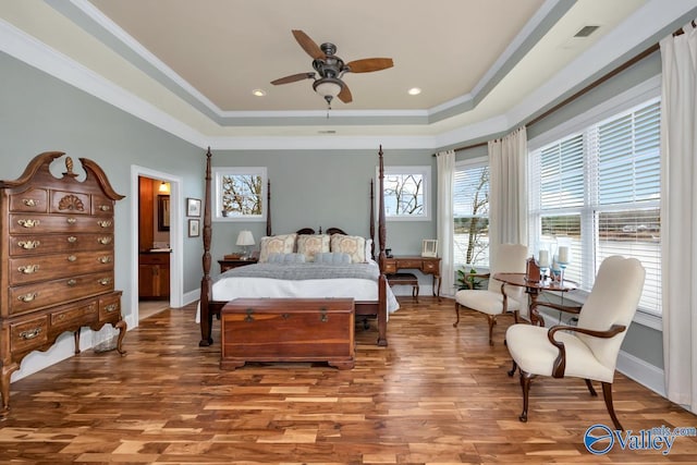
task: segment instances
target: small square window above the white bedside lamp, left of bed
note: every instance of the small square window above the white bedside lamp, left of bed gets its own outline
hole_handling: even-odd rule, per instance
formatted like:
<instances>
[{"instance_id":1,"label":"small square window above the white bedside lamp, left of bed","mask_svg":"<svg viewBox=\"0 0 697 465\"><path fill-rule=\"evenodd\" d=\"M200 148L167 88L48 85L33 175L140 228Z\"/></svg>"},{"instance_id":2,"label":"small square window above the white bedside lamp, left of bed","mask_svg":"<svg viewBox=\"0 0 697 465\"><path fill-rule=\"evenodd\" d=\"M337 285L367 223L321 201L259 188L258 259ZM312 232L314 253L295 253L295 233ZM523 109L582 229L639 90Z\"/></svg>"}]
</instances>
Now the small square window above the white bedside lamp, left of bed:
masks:
<instances>
[{"instance_id":1,"label":"small square window above the white bedside lamp, left of bed","mask_svg":"<svg viewBox=\"0 0 697 465\"><path fill-rule=\"evenodd\" d=\"M216 220L266 220L266 168L213 168L212 171Z\"/></svg>"}]
</instances>

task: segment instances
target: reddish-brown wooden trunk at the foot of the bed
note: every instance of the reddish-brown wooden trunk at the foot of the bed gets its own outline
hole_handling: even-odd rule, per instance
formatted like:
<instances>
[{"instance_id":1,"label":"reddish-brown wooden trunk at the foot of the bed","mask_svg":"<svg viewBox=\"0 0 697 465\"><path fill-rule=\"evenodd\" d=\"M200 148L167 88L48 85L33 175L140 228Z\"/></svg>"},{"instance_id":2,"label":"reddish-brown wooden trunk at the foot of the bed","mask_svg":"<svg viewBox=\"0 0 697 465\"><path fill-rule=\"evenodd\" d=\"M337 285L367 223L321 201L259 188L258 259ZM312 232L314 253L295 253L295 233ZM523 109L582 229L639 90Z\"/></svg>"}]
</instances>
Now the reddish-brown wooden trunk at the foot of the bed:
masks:
<instances>
[{"instance_id":1,"label":"reddish-brown wooden trunk at the foot of the bed","mask_svg":"<svg viewBox=\"0 0 697 465\"><path fill-rule=\"evenodd\" d=\"M246 362L354 367L353 298L237 298L221 314L223 369Z\"/></svg>"}]
</instances>

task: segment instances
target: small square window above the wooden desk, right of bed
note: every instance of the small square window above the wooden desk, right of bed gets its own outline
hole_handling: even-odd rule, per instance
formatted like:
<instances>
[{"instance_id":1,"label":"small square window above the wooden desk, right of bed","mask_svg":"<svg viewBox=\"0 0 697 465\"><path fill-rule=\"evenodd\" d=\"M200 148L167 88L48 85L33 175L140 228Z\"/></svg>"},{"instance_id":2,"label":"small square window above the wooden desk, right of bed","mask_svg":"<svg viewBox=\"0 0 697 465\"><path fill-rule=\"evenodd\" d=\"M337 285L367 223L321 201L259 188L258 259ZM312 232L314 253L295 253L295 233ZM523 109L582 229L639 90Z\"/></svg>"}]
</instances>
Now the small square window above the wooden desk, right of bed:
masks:
<instances>
[{"instance_id":1,"label":"small square window above the wooden desk, right of bed","mask_svg":"<svg viewBox=\"0 0 697 465\"><path fill-rule=\"evenodd\" d=\"M386 167L383 180L386 219L429 220L430 175L431 167Z\"/></svg>"}]
</instances>

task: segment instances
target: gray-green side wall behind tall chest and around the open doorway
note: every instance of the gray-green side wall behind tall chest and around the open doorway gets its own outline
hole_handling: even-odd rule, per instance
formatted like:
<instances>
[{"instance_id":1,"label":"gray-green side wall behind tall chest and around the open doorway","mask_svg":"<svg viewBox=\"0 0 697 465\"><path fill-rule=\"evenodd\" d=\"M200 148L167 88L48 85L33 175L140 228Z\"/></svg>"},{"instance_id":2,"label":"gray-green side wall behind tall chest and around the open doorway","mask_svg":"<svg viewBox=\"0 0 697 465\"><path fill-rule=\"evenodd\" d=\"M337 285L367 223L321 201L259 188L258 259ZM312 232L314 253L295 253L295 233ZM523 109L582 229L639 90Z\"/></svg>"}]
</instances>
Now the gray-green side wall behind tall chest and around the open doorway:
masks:
<instances>
[{"instance_id":1,"label":"gray-green side wall behind tall chest and around the open doorway","mask_svg":"<svg viewBox=\"0 0 697 465\"><path fill-rule=\"evenodd\" d=\"M137 224L131 209L137 199L131 197L131 166L181 176L183 196L201 198L204 150L4 53L0 79L0 179L16 179L36 155L60 150L76 163L97 162L126 196L115 208L115 286L123 290L123 313L132 314L131 232ZM184 234L184 292L199 286L201 249L200 237Z\"/></svg>"}]
</instances>

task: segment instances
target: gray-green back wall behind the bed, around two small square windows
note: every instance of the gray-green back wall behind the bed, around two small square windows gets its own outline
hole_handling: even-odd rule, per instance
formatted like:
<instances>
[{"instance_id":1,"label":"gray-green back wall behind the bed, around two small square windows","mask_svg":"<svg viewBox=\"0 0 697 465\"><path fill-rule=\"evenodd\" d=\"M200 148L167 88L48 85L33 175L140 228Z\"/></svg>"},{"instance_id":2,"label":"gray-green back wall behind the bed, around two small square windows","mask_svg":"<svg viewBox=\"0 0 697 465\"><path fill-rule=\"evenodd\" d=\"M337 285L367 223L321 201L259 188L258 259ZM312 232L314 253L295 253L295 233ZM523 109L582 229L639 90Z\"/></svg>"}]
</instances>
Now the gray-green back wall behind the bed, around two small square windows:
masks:
<instances>
[{"instance_id":1,"label":"gray-green back wall behind the bed, around two small square windows","mask_svg":"<svg viewBox=\"0 0 697 465\"><path fill-rule=\"evenodd\" d=\"M383 148L384 166L430 166L430 208L436 211L436 159L430 150ZM213 154L215 167L267 167L271 182L273 234L309 227L325 231L337 227L348 234L369 236L370 180L376 182L378 147L375 150L283 150ZM376 210L377 212L377 206ZM376 220L377 244L377 220ZM255 241L266 232L261 222L213 223L212 257L236 250L237 232L252 230ZM436 216L430 221L388 221L387 246L394 255L419 255L423 238L436 237ZM377 249L377 247L376 247ZM213 270L218 273L218 269Z\"/></svg>"}]
</instances>

